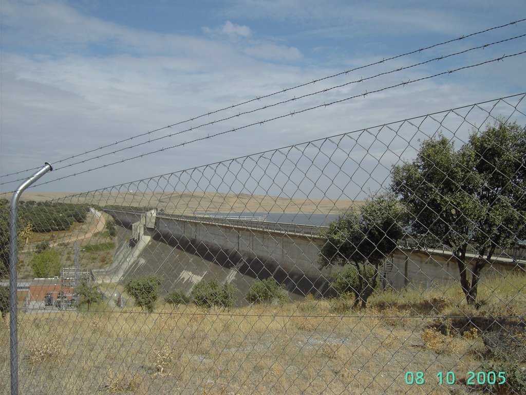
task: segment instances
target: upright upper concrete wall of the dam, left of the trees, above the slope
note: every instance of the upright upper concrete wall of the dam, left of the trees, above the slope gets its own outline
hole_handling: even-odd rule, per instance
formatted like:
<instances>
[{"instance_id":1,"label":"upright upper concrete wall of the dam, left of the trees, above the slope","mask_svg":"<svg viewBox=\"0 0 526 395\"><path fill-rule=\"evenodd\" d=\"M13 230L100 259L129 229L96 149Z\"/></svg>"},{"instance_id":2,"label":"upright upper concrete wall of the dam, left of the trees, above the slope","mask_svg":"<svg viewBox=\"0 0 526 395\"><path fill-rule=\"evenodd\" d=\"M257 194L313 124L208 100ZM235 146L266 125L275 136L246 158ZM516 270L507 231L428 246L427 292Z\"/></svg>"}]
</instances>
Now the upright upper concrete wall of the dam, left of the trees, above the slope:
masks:
<instances>
[{"instance_id":1,"label":"upright upper concrete wall of the dam, left of the trees, above the slope","mask_svg":"<svg viewBox=\"0 0 526 395\"><path fill-rule=\"evenodd\" d=\"M328 289L329 270L320 270L316 262L316 235L262 229L247 221L242 226L218 224L200 216L175 216L149 211L105 210L120 226L132 230L130 247L146 238L193 253L230 270L252 278L273 276L290 292L306 294ZM127 254L122 261L134 264ZM119 265L120 266L120 265Z\"/></svg>"}]
</instances>

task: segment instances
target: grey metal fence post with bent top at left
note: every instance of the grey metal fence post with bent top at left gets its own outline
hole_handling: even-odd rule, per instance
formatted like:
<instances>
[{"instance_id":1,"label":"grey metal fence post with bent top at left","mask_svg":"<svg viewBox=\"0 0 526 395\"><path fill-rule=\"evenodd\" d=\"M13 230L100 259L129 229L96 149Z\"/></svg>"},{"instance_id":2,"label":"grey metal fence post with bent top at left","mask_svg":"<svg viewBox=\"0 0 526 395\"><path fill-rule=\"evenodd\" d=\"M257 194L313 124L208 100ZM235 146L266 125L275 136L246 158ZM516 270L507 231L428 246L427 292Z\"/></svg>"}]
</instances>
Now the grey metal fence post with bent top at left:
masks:
<instances>
[{"instance_id":1,"label":"grey metal fence post with bent top at left","mask_svg":"<svg viewBox=\"0 0 526 395\"><path fill-rule=\"evenodd\" d=\"M16 236L16 208L18 205L18 199L20 198L20 195L22 195L22 192L50 170L53 170L53 167L46 162L42 169L18 186L11 198L11 205L9 205L9 334L11 347L11 395L18 395L18 328L16 309L16 265L18 264L18 245Z\"/></svg>"}]
</instances>

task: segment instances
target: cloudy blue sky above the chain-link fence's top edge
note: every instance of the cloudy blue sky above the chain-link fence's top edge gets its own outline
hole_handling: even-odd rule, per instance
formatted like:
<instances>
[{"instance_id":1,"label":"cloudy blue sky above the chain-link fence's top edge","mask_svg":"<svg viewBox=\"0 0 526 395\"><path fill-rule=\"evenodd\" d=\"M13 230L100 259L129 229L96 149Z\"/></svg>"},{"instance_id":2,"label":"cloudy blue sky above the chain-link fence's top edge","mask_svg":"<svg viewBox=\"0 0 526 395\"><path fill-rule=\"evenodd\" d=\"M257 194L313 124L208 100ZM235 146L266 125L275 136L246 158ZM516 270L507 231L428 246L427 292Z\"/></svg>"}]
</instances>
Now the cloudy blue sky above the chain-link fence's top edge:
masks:
<instances>
[{"instance_id":1,"label":"cloudy blue sky above the chain-link fence's top edge","mask_svg":"<svg viewBox=\"0 0 526 395\"><path fill-rule=\"evenodd\" d=\"M526 22L367 66L526 18L523 0L0 7L1 192L44 162L55 170L34 191L85 192L526 91L526 54L515 55L526 38L508 40L526 34ZM403 146L375 150L371 166L384 173L411 156ZM363 191L361 170L353 184ZM239 192L255 191L243 183Z\"/></svg>"}]
</instances>

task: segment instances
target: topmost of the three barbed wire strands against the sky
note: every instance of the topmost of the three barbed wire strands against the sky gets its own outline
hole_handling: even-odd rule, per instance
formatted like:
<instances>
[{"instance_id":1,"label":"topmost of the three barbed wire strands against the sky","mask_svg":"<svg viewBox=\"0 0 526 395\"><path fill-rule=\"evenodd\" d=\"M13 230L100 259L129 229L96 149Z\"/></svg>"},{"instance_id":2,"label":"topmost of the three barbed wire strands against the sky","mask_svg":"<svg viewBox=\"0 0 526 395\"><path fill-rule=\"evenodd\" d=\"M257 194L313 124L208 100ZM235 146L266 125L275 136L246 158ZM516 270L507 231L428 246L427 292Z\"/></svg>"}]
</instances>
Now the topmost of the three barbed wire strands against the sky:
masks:
<instances>
[{"instance_id":1,"label":"topmost of the three barbed wire strands against the sky","mask_svg":"<svg viewBox=\"0 0 526 395\"><path fill-rule=\"evenodd\" d=\"M304 87L304 86L307 86L307 85L315 84L316 82L328 80L330 78L335 78L337 76L348 74L350 72L354 72L354 71L358 71L358 70L362 70L363 68L367 68L367 67L370 67L370 66L379 65L379 64L382 64L382 63L385 63L385 62L388 62L388 61L395 60L395 59L400 58L400 57L409 56L409 55L416 54L416 53L421 53L422 51L427 51L427 50L430 50L431 48L436 48L436 47L441 46L441 45L446 45L446 44L450 44L450 43L453 43L453 42L456 42L456 41L461 41L461 40L464 40L464 39L466 39L468 37L473 37L473 36L476 36L476 35L480 35L480 34L483 34L483 33L487 33L487 32L493 31L495 29L500 29L500 28L503 28L503 27L515 25L515 24L518 24L518 23L521 23L521 22L524 22L524 21L526 21L526 18L519 19L519 20L513 21L513 22L509 22L509 23L506 23L506 24L503 24L503 25L500 25L500 26L490 27L490 28L484 29L484 30L479 31L479 32L463 35L463 36L460 36L460 37L457 37L457 38L453 38L452 40L448 40L448 41L444 41L444 42L441 42L441 43L429 45L427 47L422 47L422 48L419 48L418 50L413 50L413 51L406 52L406 53L403 53L403 54L399 54L399 55L396 55L396 56L383 58L381 61L369 63L367 65L362 65L362 66L358 66L358 67L355 67L355 68L352 68L352 69L349 69L349 70L346 70L346 71L342 71L340 73L336 73L336 74L328 75L328 76L325 76L325 77L317 78L316 80L312 80L310 82L306 82L306 83L302 83L302 84L299 84L299 85L296 85L296 86L292 86L290 88L284 88L283 90L276 91L276 92L273 92L273 93L270 93L270 94L267 94L267 95L256 96L255 98L252 98L252 99L247 100L245 102L240 102L238 104L232 104L230 106L219 108L218 110L211 111L211 112L208 112L208 113L204 113L204 114L198 115L198 116L193 117L193 118L189 118L189 119L184 120L184 121L173 123L171 125L160 127L158 129L155 129L155 130L152 130L152 131L149 131L149 132L145 132L145 133L137 134L137 135L134 135L134 136L131 136L131 137L127 137L126 139L116 141L115 143L106 144L106 145L97 147L95 149L85 151L83 153L79 153L79 154L75 154L75 155L72 155L72 156L68 156L68 157L66 157L64 159L60 159L58 161L55 161L54 165L57 165L59 163L65 162L65 161L70 160L70 159L74 159L75 157L78 157L78 156L82 156L82 155L86 155L88 153L93 153L93 152L96 152L96 151L99 151L99 150L103 150L103 149L108 148L110 146L118 145L118 144L124 143L126 141L131 141L131 140L137 139L139 137L147 136L149 134L152 134L152 133L155 133L155 132L158 132L158 131L161 131L161 130L169 129L171 127L174 127L174 126L177 126L177 125L180 125L180 124L184 124L184 123L187 123L187 122L195 121L195 120L198 120L201 117L210 116L212 114L216 114L216 113L219 113L219 112L222 112L222 111L226 111L226 110L231 110L232 108L236 108L236 107L239 107L239 106L251 103L251 102L259 101L259 100L262 100L264 98L268 98L268 97L271 97L271 96L278 95L280 93L290 92L290 91L295 90L295 89L300 88L300 87ZM228 119L228 118L226 118L226 119ZM220 121L214 121L212 123L215 123L215 122L220 122ZM96 159L97 157L98 156L95 156L94 158ZM83 163L83 161L80 161L80 162L77 162L77 163ZM34 167L32 169L26 169L26 170L18 171L18 172L15 172L15 173L0 175L0 178L1 177L12 176L12 175L16 175L16 174L21 174L21 173L24 173L24 172L27 172L27 171L31 171L31 170L35 170L35 169L38 169L38 167ZM16 182L16 181L21 181L21 180L25 180L25 179L18 179L18 180L14 180L14 181L5 182L5 183L0 183L0 185L11 183L11 182Z\"/></svg>"}]
</instances>

